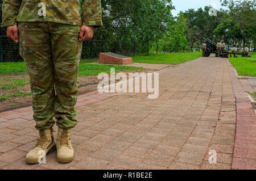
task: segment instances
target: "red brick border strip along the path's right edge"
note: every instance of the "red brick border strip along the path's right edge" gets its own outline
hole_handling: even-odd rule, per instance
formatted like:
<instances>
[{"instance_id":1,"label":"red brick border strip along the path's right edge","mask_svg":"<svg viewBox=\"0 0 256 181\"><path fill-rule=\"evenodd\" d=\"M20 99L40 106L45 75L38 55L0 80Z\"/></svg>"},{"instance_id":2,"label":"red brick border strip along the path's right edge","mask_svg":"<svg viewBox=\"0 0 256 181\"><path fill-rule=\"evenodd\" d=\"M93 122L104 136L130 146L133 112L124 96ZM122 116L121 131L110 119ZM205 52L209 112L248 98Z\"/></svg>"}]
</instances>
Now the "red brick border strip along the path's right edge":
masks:
<instances>
[{"instance_id":1,"label":"red brick border strip along the path's right edge","mask_svg":"<svg viewBox=\"0 0 256 181\"><path fill-rule=\"evenodd\" d=\"M254 90L246 80L238 80L229 62L230 79L237 103L237 131L232 169L256 169L256 117L245 91Z\"/></svg>"}]
</instances>

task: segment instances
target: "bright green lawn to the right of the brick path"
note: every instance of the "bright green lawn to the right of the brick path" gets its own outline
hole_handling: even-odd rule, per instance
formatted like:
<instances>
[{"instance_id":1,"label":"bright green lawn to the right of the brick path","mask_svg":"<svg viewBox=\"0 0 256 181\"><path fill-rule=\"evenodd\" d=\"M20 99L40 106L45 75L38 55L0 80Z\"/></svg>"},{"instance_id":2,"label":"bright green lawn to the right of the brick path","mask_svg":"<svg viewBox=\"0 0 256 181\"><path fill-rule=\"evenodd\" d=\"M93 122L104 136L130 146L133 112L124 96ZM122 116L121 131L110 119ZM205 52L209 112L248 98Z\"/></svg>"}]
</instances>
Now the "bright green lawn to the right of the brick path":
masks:
<instances>
[{"instance_id":1,"label":"bright green lawn to the right of the brick path","mask_svg":"<svg viewBox=\"0 0 256 181\"><path fill-rule=\"evenodd\" d=\"M239 75L256 77L256 53L250 53L251 57L229 58Z\"/></svg>"}]
</instances>

